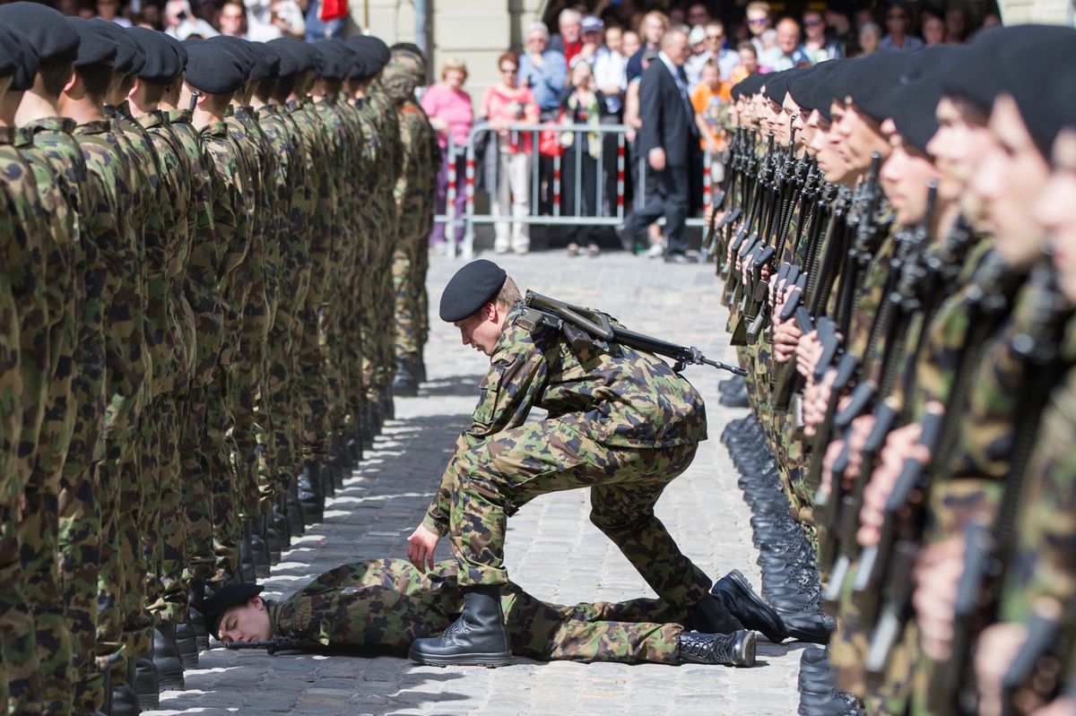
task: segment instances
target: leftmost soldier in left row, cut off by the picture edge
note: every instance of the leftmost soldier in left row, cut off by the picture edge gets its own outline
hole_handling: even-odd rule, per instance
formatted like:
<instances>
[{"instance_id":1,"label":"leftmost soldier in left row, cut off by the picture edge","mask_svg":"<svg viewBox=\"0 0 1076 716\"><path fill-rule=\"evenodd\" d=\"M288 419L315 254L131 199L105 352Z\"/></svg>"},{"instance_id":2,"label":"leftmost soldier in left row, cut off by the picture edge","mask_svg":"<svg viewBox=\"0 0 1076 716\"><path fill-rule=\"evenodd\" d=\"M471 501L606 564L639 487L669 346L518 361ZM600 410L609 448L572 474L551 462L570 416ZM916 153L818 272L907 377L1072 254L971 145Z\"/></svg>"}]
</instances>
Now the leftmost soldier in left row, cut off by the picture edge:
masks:
<instances>
[{"instance_id":1,"label":"leftmost soldier in left row, cut off by the picture edge","mask_svg":"<svg viewBox=\"0 0 1076 716\"><path fill-rule=\"evenodd\" d=\"M0 30L0 99L6 94L22 94L33 82L38 56L29 41L17 30ZM14 106L14 103L9 104ZM57 278L69 281L70 267L63 261L70 250L70 237L54 227L46 204L39 196L36 170L24 152L29 148L28 133L14 127L14 117L0 112L0 243L3 271L0 271L0 335L6 359L0 366L0 704L9 704L9 671L15 685L16 707L28 705L27 677L37 669L33 616L23 586L17 516L19 502L31 481L39 456L39 435L48 440L52 431L42 430L43 410L53 395L51 340L58 339L58 350L70 352L70 335L57 329L72 328L65 312L67 297L57 288ZM47 166L43 175L53 195L55 177ZM53 231L57 233L53 234ZM47 261L47 263L46 263ZM59 263L59 266L56 266ZM57 276L57 269L62 269ZM53 316L49 310L56 313ZM70 367L67 367L70 370ZM70 391L70 377L58 381ZM49 426L52 427L52 426ZM53 428L55 429L55 428ZM52 446L41 448L44 457ZM42 459L43 459L42 457Z\"/></svg>"}]
</instances>

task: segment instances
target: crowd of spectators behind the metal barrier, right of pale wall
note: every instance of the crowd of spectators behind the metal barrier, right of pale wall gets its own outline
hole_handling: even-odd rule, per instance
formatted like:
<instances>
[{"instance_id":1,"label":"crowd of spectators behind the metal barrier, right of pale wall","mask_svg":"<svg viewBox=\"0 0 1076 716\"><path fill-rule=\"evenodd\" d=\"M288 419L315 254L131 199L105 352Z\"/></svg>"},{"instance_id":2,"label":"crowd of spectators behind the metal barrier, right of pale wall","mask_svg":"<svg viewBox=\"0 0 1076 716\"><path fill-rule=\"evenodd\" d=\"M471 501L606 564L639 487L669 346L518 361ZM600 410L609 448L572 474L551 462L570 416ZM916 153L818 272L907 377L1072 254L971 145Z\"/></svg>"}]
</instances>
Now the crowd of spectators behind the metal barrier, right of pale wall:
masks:
<instances>
[{"instance_id":1,"label":"crowd of spectators behind the metal barrier, right of pale wall","mask_svg":"<svg viewBox=\"0 0 1076 716\"><path fill-rule=\"evenodd\" d=\"M639 83L647 67L660 57L662 39L670 29L682 31L688 38L690 55L682 71L684 89L695 113L699 149L717 156L726 142L722 130L724 105L733 85L744 77L755 72L807 67L876 52L963 42L972 29L964 10L946 8L945 0L938 2L942 4L908 5L896 0L860 6L836 0L827 4L810 3L796 14L778 14L765 0L746 4L674 2L668 13L648 11L647 5L653 3L592 0L590 3L569 3L560 10L554 15L556 31L553 33L544 23L527 26L514 84L509 85L505 78L508 67L501 61L502 82L487 90L479 112L480 118L497 123L496 146L509 155L497 162L485 162L494 214L506 219L497 225L497 250L522 252L529 247L526 227L520 223L509 226L507 219L513 213L529 211L532 198L536 199L533 209L538 214L554 213L554 155L561 157L558 201L563 216L613 216L615 213L615 135L587 132L586 141L580 142L581 134L564 132L556 142L555 138L543 133L537 156L539 167L533 171L526 162L534 157L529 152L527 159L518 156L523 151L523 140L512 140L512 132L504 124L506 118L510 124L513 114L516 121L535 116L546 124L626 125L631 158L626 177L627 206L638 210L653 188L649 170L640 172L639 166L638 133L642 127ZM997 23L997 16L992 14L979 18L978 25ZM491 97L509 90L514 92L518 104L494 102L491 105ZM496 108L495 116L490 114L491 106ZM436 116L438 110L429 105L427 112ZM596 181L599 171L605 173L604 182ZM714 181L720 182L720 164L716 162L712 171ZM532 186L532 177L537 177L537 187ZM582 183L579 191L575 187L577 182ZM605 187L603 196L597 196L599 184ZM695 184L692 198L697 207L700 182ZM642 250L661 256L664 241L661 230L651 226L649 232L649 249L642 247ZM599 234L600 231L593 228L585 231L567 228L562 232L571 256L597 255ZM611 239L611 232L606 235ZM442 234L435 233L431 241L439 245Z\"/></svg>"}]
</instances>

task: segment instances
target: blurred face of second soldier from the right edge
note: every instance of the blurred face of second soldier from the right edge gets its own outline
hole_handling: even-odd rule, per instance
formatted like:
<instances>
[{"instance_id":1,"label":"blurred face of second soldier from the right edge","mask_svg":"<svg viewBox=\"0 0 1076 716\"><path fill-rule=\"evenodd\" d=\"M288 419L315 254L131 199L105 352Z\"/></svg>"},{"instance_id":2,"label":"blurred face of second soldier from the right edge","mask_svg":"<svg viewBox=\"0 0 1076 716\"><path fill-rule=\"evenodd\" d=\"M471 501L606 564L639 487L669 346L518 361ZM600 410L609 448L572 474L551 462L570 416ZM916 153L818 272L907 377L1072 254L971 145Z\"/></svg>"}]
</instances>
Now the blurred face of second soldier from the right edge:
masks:
<instances>
[{"instance_id":1,"label":"blurred face of second soldier from the right edge","mask_svg":"<svg viewBox=\"0 0 1076 716\"><path fill-rule=\"evenodd\" d=\"M1043 230L1032 207L1046 186L1049 167L1010 95L994 100L990 133L993 146L982 158L971 190L986 211L1002 258L1028 268L1043 249Z\"/></svg>"}]
</instances>

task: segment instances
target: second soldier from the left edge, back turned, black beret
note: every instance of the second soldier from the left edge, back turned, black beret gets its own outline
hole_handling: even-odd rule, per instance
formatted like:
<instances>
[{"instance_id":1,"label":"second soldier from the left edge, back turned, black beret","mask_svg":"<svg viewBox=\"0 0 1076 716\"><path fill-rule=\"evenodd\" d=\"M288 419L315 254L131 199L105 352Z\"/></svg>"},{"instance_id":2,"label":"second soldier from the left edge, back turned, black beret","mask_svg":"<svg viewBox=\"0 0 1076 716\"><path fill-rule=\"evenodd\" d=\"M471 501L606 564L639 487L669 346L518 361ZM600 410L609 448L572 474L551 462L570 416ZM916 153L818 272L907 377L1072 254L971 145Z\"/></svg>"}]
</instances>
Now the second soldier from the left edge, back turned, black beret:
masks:
<instances>
[{"instance_id":1,"label":"second soldier from the left edge, back turned, black beret","mask_svg":"<svg viewBox=\"0 0 1076 716\"><path fill-rule=\"evenodd\" d=\"M100 270L95 262L96 242L111 240L112 234L111 216L102 211L97 185L87 176L85 159L71 138L74 123L60 118L59 95L71 75L77 33L58 13L33 3L5 5L0 15L5 25L26 33L41 58L37 77L28 77L23 86L28 91L16 120L33 137L33 145L25 147L26 157L55 219L48 257L49 300L57 320L51 327L55 362L42 426L43 449L27 485L27 518L19 526L24 593L34 612L38 653L33 653L33 640L24 639L20 648L4 654L12 708L33 714L45 703L58 710L70 707L73 653L77 654L83 698L98 704L103 698L99 681L96 687L87 684L96 671L91 645L98 535L91 517L96 503L90 471L102 456L104 344L100 292L96 286L89 290L85 282ZM80 306L82 314L76 316ZM67 518L83 509L82 514L90 517L72 530ZM63 552L61 585L57 553L66 549L69 540L86 548ZM69 582L72 572L77 577ZM72 599L68 589L72 583L81 598ZM72 630L80 635L81 647L90 645L86 651L72 650ZM44 692L37 691L37 684Z\"/></svg>"}]
</instances>

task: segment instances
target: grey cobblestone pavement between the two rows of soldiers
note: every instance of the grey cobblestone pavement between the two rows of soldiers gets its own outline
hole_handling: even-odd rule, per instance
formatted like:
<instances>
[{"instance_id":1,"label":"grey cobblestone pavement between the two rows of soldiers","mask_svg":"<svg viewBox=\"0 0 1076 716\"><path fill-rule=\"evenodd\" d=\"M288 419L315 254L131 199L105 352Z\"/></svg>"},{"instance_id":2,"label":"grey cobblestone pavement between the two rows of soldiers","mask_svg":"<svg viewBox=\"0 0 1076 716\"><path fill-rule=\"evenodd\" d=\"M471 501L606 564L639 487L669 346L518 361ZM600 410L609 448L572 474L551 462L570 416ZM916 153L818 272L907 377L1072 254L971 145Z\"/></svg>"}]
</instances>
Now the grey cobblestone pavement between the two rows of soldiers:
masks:
<instances>
[{"instance_id":1,"label":"grey cobblestone pavement between the two rows of soldiers","mask_svg":"<svg viewBox=\"0 0 1076 716\"><path fill-rule=\"evenodd\" d=\"M521 288L600 307L626 326L697 345L710 358L733 361L725 312L712 267L666 266L622 253L568 259L561 252L497 257ZM266 582L265 596L286 595L337 564L406 556L406 538L429 503L453 442L466 427L485 370L484 356L464 349L451 326L436 320L441 288L461 266L434 258L429 272L435 325L426 348L429 383L417 398L398 399L360 470L326 507ZM750 512L719 435L744 411L718 404L727 375L706 367L686 371L707 402L710 439L691 468L657 503L657 515L683 552L718 578L741 570L759 588ZM621 600L652 596L605 535L590 524L589 495L544 496L509 521L507 564L513 581L550 601ZM449 556L443 544L438 558ZM218 646L218 645L217 645ZM267 656L211 649L186 673L186 691L161 694L173 714L736 714L791 716L803 644L759 642L754 669L660 664L537 663L516 658L496 670L420 667L399 658Z\"/></svg>"}]
</instances>

